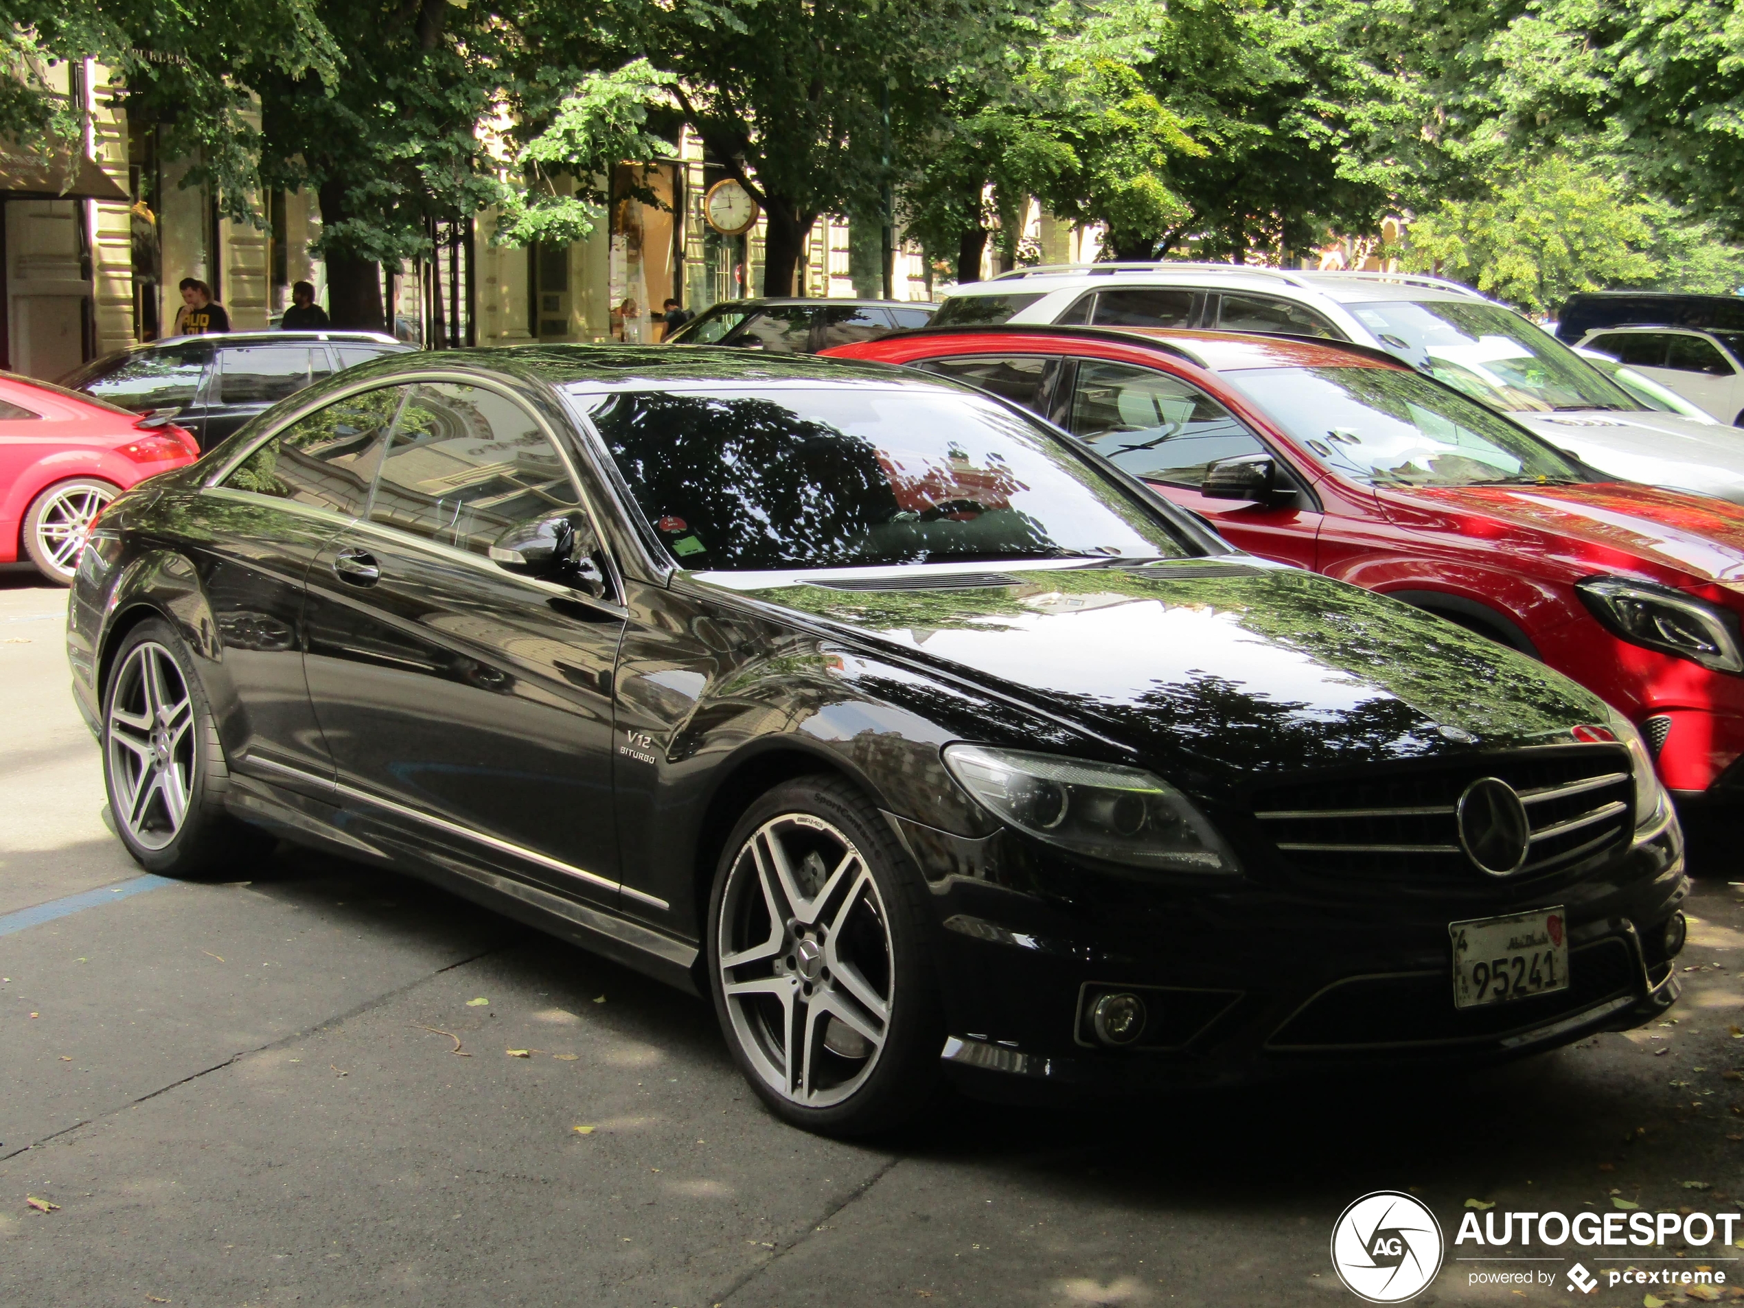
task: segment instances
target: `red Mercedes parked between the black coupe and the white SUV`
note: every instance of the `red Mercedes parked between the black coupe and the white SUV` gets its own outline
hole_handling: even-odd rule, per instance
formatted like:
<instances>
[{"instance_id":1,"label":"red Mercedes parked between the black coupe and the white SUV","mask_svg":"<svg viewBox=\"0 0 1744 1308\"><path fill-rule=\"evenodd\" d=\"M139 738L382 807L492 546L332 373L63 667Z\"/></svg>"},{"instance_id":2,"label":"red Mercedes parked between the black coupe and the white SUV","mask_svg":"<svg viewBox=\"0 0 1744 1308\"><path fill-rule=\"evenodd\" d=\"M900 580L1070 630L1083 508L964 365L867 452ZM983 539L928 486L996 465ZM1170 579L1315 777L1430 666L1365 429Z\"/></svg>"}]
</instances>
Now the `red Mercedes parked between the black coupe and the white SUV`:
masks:
<instances>
[{"instance_id":1,"label":"red Mercedes parked between the black coupe and the white SUV","mask_svg":"<svg viewBox=\"0 0 1744 1308\"><path fill-rule=\"evenodd\" d=\"M1380 351L1095 328L825 351L1066 427L1233 544L1543 659L1639 724L1685 802L1744 797L1744 508L1604 474Z\"/></svg>"}]
</instances>

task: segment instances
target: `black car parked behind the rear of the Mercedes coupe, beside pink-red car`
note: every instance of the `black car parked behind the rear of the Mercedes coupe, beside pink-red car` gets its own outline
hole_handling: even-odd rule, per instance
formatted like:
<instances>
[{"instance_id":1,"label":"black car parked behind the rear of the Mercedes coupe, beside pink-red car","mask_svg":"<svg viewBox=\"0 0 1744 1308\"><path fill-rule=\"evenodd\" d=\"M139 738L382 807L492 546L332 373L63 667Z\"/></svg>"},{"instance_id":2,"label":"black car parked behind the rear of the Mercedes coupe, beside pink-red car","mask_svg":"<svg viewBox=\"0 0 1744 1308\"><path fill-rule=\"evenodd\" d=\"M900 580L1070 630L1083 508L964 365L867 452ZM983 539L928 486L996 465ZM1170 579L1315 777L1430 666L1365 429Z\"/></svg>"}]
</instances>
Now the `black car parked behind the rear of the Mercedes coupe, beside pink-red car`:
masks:
<instances>
[{"instance_id":1,"label":"black car parked behind the rear of the Mercedes coupe, beside pink-red car","mask_svg":"<svg viewBox=\"0 0 1744 1308\"><path fill-rule=\"evenodd\" d=\"M105 354L61 380L131 408L178 410L176 426L209 450L270 405L331 373L412 349L378 331L230 331L171 337Z\"/></svg>"}]
</instances>

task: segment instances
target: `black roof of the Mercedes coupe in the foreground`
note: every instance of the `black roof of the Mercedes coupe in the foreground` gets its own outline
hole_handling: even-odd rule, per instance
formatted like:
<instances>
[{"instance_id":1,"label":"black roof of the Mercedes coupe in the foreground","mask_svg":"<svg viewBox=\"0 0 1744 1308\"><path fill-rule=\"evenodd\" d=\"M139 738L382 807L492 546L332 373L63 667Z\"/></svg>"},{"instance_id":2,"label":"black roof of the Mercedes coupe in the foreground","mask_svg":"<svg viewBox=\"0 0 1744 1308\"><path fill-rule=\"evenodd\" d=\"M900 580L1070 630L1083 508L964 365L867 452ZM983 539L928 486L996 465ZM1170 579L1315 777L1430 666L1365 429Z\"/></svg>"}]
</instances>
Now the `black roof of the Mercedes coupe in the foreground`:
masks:
<instances>
[{"instance_id":1,"label":"black roof of the Mercedes coupe in the foreground","mask_svg":"<svg viewBox=\"0 0 1744 1308\"><path fill-rule=\"evenodd\" d=\"M417 359L377 359L363 364L385 377L401 370L457 368L511 373L544 385L582 389L652 389L661 385L757 385L760 382L839 382L849 378L916 384L930 378L886 363L823 359L814 354L764 354L731 345L499 345L492 349L427 351ZM937 378L931 378L937 382Z\"/></svg>"}]
</instances>

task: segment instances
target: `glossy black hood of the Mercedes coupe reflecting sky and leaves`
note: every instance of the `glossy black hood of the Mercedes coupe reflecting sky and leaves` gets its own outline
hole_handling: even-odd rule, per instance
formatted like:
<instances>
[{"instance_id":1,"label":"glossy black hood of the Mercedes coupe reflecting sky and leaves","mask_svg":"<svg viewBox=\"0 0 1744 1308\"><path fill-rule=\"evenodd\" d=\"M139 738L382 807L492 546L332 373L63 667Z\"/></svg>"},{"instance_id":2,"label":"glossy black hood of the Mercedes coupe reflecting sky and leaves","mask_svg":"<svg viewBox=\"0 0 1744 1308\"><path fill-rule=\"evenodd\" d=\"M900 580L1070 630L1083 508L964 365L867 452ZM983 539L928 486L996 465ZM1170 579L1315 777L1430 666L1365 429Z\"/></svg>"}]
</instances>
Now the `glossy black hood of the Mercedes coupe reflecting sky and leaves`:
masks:
<instances>
[{"instance_id":1,"label":"glossy black hood of the Mercedes coupe reflecting sky and leaves","mask_svg":"<svg viewBox=\"0 0 1744 1308\"><path fill-rule=\"evenodd\" d=\"M1608 720L1592 694L1502 645L1245 556L1001 569L961 589L937 576L926 589L832 579L750 595L1223 785L1566 741L1570 727Z\"/></svg>"}]
</instances>

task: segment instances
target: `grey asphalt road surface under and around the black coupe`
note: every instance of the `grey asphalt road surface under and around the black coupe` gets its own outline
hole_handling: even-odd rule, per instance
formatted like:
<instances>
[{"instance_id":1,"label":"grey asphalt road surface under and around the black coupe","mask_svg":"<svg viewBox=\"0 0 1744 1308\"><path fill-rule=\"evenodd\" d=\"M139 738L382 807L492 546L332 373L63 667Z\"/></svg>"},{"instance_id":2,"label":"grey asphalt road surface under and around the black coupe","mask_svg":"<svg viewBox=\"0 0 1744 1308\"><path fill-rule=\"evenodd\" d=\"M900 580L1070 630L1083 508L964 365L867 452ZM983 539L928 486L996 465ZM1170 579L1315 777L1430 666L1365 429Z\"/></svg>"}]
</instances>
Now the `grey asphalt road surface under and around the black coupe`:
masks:
<instances>
[{"instance_id":1,"label":"grey asphalt road surface under and around the black coupe","mask_svg":"<svg viewBox=\"0 0 1744 1308\"><path fill-rule=\"evenodd\" d=\"M0 577L0 1305L1338 1305L1332 1223L1373 1189L1449 1238L1467 1200L1739 1207L1723 858L1648 1031L1472 1078L957 1104L837 1144L760 1109L705 1003L420 882L290 851L141 879L63 614ZM1643 1298L1449 1261L1416 1299L1573 1301Z\"/></svg>"}]
</instances>

